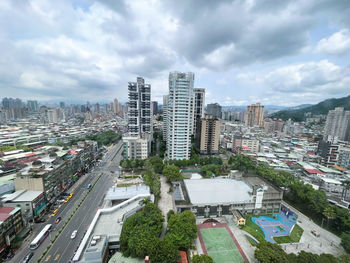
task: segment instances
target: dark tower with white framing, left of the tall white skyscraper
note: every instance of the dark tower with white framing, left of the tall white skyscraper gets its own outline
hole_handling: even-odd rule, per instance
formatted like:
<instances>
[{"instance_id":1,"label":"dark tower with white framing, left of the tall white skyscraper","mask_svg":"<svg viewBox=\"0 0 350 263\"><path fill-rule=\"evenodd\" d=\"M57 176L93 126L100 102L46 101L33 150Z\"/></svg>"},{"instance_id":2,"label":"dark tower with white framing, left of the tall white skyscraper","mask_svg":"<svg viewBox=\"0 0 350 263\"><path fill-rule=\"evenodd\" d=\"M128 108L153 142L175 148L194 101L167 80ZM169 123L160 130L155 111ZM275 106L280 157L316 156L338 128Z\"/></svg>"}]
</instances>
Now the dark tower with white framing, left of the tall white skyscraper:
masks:
<instances>
[{"instance_id":1,"label":"dark tower with white framing, left of the tall white skyscraper","mask_svg":"<svg viewBox=\"0 0 350 263\"><path fill-rule=\"evenodd\" d=\"M152 133L151 85L141 77L129 82L128 129L132 137Z\"/></svg>"}]
</instances>

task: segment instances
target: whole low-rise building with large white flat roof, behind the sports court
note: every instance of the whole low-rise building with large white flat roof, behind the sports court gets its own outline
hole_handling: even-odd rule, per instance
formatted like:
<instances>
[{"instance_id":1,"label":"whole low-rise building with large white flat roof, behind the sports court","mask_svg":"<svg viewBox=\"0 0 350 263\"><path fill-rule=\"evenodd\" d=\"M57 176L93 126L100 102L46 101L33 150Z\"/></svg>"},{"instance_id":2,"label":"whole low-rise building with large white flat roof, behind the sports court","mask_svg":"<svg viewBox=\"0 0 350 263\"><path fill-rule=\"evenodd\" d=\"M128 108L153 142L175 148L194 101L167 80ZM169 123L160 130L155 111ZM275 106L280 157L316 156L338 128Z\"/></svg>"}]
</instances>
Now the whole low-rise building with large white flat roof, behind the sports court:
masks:
<instances>
[{"instance_id":1,"label":"whole low-rise building with large white flat roof, behind the sports court","mask_svg":"<svg viewBox=\"0 0 350 263\"><path fill-rule=\"evenodd\" d=\"M191 210L198 217L246 213L278 213L283 191L258 176L239 179L186 179L174 183L177 212Z\"/></svg>"}]
</instances>

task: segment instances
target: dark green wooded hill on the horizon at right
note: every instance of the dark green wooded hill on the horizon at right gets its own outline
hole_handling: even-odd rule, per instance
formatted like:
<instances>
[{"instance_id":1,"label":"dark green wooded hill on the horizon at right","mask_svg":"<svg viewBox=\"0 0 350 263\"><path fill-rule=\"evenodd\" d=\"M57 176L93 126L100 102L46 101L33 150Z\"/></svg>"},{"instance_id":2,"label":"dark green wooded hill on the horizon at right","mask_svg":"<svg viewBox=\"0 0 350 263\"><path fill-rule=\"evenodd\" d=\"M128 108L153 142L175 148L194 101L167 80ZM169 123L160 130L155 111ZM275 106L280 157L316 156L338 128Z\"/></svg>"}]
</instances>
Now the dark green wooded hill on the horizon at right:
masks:
<instances>
[{"instance_id":1,"label":"dark green wooded hill on the horizon at right","mask_svg":"<svg viewBox=\"0 0 350 263\"><path fill-rule=\"evenodd\" d=\"M312 114L327 114L329 110L334 110L336 107L344 107L344 109L350 110L350 95L339 99L327 99L316 105L298 110L278 111L273 113L270 117L282 120L292 119L293 121L304 121L306 119L305 113L307 112L311 112Z\"/></svg>"}]
</instances>

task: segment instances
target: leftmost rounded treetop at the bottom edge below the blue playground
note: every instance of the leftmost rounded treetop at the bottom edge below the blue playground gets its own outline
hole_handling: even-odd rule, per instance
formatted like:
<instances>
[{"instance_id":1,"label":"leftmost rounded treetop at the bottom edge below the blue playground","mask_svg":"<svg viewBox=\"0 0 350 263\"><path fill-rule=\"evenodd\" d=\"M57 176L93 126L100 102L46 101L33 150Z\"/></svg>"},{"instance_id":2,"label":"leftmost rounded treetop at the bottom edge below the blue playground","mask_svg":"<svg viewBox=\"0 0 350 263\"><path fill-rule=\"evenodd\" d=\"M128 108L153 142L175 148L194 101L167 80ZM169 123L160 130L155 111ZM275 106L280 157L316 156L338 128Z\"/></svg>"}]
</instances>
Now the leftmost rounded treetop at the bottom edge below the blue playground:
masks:
<instances>
[{"instance_id":1,"label":"leftmost rounded treetop at the bottom edge below the blue playground","mask_svg":"<svg viewBox=\"0 0 350 263\"><path fill-rule=\"evenodd\" d=\"M261 263L288 263L287 253L277 244L260 242L255 250L255 258Z\"/></svg>"}]
</instances>

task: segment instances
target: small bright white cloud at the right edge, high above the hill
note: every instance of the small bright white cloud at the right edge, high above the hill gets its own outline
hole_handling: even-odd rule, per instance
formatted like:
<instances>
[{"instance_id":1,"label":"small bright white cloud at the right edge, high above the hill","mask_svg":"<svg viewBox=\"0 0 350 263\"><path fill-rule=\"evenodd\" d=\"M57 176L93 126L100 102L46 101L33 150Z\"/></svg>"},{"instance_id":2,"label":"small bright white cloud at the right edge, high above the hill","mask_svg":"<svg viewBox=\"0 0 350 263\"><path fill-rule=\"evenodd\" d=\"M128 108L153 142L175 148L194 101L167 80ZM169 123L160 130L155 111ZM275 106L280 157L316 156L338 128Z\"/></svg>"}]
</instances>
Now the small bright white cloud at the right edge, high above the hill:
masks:
<instances>
[{"instance_id":1,"label":"small bright white cloud at the right edge, high above the hill","mask_svg":"<svg viewBox=\"0 0 350 263\"><path fill-rule=\"evenodd\" d=\"M350 31L342 29L334 33L329 38L321 39L316 47L316 51L330 55L344 55L350 52Z\"/></svg>"}]
</instances>

